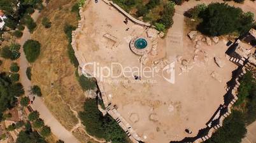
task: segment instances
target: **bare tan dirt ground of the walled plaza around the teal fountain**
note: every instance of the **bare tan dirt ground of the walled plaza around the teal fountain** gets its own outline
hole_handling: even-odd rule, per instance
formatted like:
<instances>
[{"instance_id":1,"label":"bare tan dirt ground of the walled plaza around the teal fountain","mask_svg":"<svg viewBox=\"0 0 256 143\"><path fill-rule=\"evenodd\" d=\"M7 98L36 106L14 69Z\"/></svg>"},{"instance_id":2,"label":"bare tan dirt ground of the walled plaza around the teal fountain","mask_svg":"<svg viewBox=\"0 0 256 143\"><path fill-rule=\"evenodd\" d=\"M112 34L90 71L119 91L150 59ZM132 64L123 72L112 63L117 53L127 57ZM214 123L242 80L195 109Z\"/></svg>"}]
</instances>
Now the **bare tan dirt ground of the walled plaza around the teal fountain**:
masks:
<instances>
[{"instance_id":1,"label":"bare tan dirt ground of the walled plaza around the teal fountain","mask_svg":"<svg viewBox=\"0 0 256 143\"><path fill-rule=\"evenodd\" d=\"M200 2L194 1L188 5L196 3ZM128 80L127 83L106 82L113 81L113 78L104 78L103 82L108 99L117 104L117 110L145 142L181 140L193 137L198 130L206 127L206 122L224 103L226 82L231 79L231 72L236 68L225 56L226 39L220 38L218 44L213 42L212 46L202 42L197 50L195 42L187 37L184 30L184 9L178 6L176 10L173 27L165 39L158 39L159 49L166 51L164 59L175 62L174 84L162 77L152 78L154 83L143 84L133 83L133 77L118 78ZM125 25L125 17L103 1L97 4L90 1L83 9L82 16L85 22L76 43L86 62L96 61L100 66L110 66L111 62L123 66L140 65L140 57L132 53L129 42L136 36L145 37L145 27L130 21ZM126 31L127 28L130 29ZM116 37L117 47L113 47L113 41L106 39L104 34ZM222 59L223 68L216 65L213 59L216 56ZM177 57L185 59L190 65L187 72L181 72L182 65ZM114 70L114 73L119 70ZM213 71L218 73L221 81L211 77ZM190 128L192 134L186 134L185 128Z\"/></svg>"}]
</instances>

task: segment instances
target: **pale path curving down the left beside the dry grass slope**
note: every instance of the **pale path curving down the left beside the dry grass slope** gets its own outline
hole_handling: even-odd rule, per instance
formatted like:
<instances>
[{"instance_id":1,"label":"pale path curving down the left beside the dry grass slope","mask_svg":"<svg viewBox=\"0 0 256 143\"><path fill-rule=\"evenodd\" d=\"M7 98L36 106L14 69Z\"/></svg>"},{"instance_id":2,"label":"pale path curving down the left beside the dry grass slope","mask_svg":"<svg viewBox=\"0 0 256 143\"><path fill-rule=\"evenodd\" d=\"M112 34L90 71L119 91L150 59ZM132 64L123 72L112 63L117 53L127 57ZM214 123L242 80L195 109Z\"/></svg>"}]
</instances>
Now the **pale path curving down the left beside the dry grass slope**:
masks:
<instances>
[{"instance_id":1,"label":"pale path curving down the left beside the dry grass slope","mask_svg":"<svg viewBox=\"0 0 256 143\"><path fill-rule=\"evenodd\" d=\"M38 19L39 12L35 11L35 13L32 15L32 18L34 21ZM29 33L29 30L27 27L25 27L24 34L22 38L20 39L20 45L23 47L25 41L30 39L31 34ZM31 87L31 81L27 78L27 75L25 71L27 70L27 67L29 67L29 63L27 62L27 59L25 58L25 54L23 49L20 49L20 81L22 85L24 86L25 95L29 95L29 97L32 97L32 95L29 94L29 90ZM75 136L66 128L64 128L56 118L50 113L49 109L45 106L43 103L43 99L41 97L36 97L34 103L31 105L32 109L39 111L40 118L45 120L45 124L48 125L52 133L59 139L64 140L66 143L78 143L79 141L76 139Z\"/></svg>"}]
</instances>

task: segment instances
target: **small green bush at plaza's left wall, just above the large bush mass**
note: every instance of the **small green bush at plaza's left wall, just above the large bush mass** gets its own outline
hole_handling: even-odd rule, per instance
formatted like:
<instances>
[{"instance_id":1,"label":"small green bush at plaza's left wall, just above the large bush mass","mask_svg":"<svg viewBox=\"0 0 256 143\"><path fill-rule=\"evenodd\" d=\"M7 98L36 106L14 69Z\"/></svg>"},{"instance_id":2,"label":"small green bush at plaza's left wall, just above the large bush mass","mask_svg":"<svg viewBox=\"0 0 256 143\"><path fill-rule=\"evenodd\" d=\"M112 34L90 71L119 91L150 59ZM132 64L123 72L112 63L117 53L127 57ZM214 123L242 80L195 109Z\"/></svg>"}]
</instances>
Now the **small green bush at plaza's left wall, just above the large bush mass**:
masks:
<instances>
[{"instance_id":1,"label":"small green bush at plaza's left wall, just above the large bush mass","mask_svg":"<svg viewBox=\"0 0 256 143\"><path fill-rule=\"evenodd\" d=\"M85 77L84 75L79 76L78 71L76 71L76 78L83 90L93 90L96 89L96 81L94 78Z\"/></svg>"}]
</instances>

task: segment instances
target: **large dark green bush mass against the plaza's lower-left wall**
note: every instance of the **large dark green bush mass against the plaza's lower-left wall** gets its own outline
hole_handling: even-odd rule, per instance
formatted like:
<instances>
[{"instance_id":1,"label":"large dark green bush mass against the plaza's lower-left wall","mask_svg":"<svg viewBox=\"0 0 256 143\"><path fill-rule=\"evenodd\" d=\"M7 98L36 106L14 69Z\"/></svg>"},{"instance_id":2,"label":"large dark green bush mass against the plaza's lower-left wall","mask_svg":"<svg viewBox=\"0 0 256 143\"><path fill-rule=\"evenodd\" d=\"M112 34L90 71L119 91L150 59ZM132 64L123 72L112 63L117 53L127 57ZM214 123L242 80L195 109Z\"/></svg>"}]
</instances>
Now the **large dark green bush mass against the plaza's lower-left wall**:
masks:
<instances>
[{"instance_id":1,"label":"large dark green bush mass against the plaza's lower-left wall","mask_svg":"<svg viewBox=\"0 0 256 143\"><path fill-rule=\"evenodd\" d=\"M113 143L129 142L124 130L110 115L103 116L95 99L85 101L84 111L79 113L83 125L90 135Z\"/></svg>"}]
</instances>

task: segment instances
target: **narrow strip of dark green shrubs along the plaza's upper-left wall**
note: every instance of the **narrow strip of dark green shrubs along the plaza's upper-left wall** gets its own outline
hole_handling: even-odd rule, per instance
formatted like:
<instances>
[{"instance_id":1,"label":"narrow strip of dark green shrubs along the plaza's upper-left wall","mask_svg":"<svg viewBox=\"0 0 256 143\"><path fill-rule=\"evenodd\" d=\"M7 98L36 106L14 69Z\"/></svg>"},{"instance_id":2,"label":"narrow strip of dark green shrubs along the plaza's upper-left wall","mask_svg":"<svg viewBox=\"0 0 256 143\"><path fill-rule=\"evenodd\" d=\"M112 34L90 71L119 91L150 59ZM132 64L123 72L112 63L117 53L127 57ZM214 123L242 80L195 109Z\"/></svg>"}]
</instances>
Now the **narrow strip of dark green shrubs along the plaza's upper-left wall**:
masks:
<instances>
[{"instance_id":1,"label":"narrow strip of dark green shrubs along the plaza's upper-left wall","mask_svg":"<svg viewBox=\"0 0 256 143\"><path fill-rule=\"evenodd\" d=\"M72 31L75 30L76 27L73 27L72 25L66 24L64 27L64 32L68 38L69 44L68 44L68 56L70 59L70 62L75 66L78 67L79 63L75 56L75 51L71 45L72 42Z\"/></svg>"}]
</instances>

